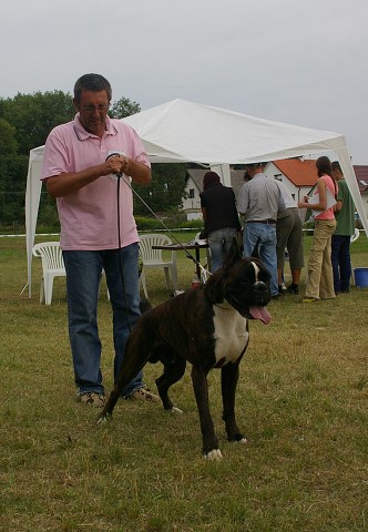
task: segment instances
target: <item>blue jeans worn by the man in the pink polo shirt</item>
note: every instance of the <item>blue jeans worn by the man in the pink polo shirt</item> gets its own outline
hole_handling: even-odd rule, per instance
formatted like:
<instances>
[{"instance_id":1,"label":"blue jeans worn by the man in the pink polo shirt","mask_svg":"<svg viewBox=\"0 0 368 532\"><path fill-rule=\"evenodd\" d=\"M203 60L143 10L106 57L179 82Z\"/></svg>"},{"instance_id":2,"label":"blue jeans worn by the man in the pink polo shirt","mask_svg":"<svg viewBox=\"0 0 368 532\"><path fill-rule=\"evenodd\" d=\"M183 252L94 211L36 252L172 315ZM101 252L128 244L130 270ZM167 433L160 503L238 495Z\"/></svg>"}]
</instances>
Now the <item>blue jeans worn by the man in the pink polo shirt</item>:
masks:
<instances>
[{"instance_id":1,"label":"blue jeans worn by the man in the pink polo shirt","mask_svg":"<svg viewBox=\"0 0 368 532\"><path fill-rule=\"evenodd\" d=\"M103 268L113 313L114 379L116 380L130 329L141 315L139 245L131 244L120 250L63 252L63 258L67 270L69 337L75 385L82 393L88 391L103 393L100 367L102 346L98 328L101 273ZM129 396L142 387L144 383L140 371L123 390L122 396Z\"/></svg>"}]
</instances>

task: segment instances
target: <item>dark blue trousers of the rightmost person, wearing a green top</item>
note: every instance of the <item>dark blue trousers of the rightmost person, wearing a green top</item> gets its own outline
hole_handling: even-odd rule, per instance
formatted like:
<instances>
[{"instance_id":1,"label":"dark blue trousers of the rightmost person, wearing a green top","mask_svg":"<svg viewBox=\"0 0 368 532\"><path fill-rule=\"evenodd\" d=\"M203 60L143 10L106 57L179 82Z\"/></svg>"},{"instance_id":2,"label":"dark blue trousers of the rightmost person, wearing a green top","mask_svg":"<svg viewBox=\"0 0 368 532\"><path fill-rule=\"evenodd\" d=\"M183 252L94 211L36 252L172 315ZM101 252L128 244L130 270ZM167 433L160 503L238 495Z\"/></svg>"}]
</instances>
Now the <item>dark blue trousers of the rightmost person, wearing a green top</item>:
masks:
<instances>
[{"instance_id":1,"label":"dark blue trousers of the rightmost person, wearing a green top","mask_svg":"<svg viewBox=\"0 0 368 532\"><path fill-rule=\"evenodd\" d=\"M351 277L350 236L333 235L331 262L335 294L349 291Z\"/></svg>"}]
</instances>

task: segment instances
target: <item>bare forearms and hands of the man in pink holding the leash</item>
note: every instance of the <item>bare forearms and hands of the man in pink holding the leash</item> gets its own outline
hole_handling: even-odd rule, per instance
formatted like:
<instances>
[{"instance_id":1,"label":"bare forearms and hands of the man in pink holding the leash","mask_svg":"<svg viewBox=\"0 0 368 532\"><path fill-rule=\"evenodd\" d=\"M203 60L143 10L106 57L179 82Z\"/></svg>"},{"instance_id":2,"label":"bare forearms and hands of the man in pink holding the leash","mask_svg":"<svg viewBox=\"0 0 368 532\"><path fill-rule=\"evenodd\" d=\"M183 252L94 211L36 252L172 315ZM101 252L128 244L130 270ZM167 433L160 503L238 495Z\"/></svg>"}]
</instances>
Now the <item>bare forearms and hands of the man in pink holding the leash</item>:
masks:
<instances>
[{"instance_id":1,"label":"bare forearms and hands of the man in pink holding the leash","mask_svg":"<svg viewBox=\"0 0 368 532\"><path fill-rule=\"evenodd\" d=\"M145 185L151 181L151 170L143 163L129 157L110 157L102 164L81 172L61 173L45 178L47 188L52 197L61 197L75 192L93 181L110 174L126 174L134 183Z\"/></svg>"}]
</instances>

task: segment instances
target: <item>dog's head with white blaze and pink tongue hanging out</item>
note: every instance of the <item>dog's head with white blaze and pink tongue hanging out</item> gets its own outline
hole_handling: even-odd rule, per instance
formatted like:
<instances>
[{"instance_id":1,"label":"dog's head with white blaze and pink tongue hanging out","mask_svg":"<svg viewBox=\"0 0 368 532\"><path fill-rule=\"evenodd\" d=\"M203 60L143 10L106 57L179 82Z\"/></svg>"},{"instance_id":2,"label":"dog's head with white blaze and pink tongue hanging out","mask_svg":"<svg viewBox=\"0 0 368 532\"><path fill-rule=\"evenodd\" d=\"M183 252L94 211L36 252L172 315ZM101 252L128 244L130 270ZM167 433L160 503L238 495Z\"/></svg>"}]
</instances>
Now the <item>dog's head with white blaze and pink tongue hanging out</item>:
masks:
<instances>
[{"instance_id":1,"label":"dog's head with white blaze and pink tongue hanging out","mask_svg":"<svg viewBox=\"0 0 368 532\"><path fill-rule=\"evenodd\" d=\"M268 324L270 316L265 307L270 301L269 280L259 258L242 258L234 239L223 268L209 277L204 293L212 304L226 299L245 318Z\"/></svg>"}]
</instances>

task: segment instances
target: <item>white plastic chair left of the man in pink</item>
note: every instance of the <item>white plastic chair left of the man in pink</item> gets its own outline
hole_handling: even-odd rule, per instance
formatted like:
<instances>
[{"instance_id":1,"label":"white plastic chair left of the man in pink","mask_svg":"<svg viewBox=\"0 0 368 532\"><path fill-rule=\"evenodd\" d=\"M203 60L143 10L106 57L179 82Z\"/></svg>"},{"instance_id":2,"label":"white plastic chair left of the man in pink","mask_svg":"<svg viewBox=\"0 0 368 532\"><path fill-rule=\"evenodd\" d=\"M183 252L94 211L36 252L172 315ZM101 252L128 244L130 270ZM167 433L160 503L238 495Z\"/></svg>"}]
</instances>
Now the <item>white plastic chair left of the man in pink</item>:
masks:
<instances>
[{"instance_id":1,"label":"white plastic chair left of the man in pink","mask_svg":"<svg viewBox=\"0 0 368 532\"><path fill-rule=\"evenodd\" d=\"M51 305L54 277L65 277L65 267L59 242L34 244L32 254L42 260L40 303Z\"/></svg>"}]
</instances>

